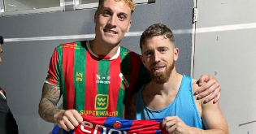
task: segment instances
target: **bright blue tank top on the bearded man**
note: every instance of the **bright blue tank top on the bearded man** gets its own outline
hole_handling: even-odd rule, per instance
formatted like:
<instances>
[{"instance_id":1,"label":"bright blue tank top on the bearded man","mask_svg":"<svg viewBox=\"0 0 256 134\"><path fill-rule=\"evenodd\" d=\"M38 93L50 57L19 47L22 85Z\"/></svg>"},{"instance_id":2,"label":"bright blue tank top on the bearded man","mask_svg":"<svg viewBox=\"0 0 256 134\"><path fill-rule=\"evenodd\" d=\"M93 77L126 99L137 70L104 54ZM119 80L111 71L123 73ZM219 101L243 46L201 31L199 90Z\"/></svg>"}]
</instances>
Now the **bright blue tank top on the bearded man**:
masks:
<instances>
[{"instance_id":1,"label":"bright blue tank top on the bearded man","mask_svg":"<svg viewBox=\"0 0 256 134\"><path fill-rule=\"evenodd\" d=\"M175 100L161 110L150 110L150 108L145 106L142 98L144 88L145 86L142 86L136 96L137 119L161 119L167 116L178 116L190 127L202 128L202 119L199 116L193 97L191 77L183 75Z\"/></svg>"}]
</instances>

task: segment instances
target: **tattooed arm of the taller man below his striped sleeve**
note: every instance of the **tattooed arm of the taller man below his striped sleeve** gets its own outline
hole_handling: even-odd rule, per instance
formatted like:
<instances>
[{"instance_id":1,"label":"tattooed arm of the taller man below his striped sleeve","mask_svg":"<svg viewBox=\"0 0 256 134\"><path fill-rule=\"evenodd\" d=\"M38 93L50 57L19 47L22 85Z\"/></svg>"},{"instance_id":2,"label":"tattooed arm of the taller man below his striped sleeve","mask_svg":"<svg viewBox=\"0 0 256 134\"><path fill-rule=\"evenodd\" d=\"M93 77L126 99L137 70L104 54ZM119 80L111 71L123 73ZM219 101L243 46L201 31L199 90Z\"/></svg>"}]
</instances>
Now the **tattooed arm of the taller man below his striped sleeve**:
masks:
<instances>
[{"instance_id":1,"label":"tattooed arm of the taller man below his striped sleeve","mask_svg":"<svg viewBox=\"0 0 256 134\"><path fill-rule=\"evenodd\" d=\"M45 119L47 122L56 123L54 115L60 111L56 107L60 96L61 93L58 86L47 83L44 84L38 109L38 113L42 119Z\"/></svg>"}]
</instances>

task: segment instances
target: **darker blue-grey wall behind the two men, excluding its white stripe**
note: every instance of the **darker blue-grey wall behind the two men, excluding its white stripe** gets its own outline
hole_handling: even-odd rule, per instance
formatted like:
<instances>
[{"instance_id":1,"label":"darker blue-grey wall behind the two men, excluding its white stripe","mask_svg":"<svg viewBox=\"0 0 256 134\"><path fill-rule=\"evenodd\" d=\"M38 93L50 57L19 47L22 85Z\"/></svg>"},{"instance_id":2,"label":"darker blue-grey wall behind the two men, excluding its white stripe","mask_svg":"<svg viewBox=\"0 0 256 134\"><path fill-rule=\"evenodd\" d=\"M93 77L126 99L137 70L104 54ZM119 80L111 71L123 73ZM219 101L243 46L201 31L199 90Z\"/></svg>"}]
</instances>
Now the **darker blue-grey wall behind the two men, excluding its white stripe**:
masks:
<instances>
[{"instance_id":1,"label":"darker blue-grey wall behind the two men, excluding its white stripe","mask_svg":"<svg viewBox=\"0 0 256 134\"><path fill-rule=\"evenodd\" d=\"M55 37L94 33L95 9L53 12L0 18L0 35L10 38ZM144 31L154 23L172 30L192 28L193 1L156 0L138 5L132 16L130 32ZM192 34L176 34L180 48L177 70L190 76ZM80 39L83 40L83 39ZM45 81L54 47L74 39L55 41L9 41L2 45L0 85L7 92L9 106L20 133L49 133L54 127L37 114L41 87ZM140 53L139 37L125 37L123 46Z\"/></svg>"}]
</instances>

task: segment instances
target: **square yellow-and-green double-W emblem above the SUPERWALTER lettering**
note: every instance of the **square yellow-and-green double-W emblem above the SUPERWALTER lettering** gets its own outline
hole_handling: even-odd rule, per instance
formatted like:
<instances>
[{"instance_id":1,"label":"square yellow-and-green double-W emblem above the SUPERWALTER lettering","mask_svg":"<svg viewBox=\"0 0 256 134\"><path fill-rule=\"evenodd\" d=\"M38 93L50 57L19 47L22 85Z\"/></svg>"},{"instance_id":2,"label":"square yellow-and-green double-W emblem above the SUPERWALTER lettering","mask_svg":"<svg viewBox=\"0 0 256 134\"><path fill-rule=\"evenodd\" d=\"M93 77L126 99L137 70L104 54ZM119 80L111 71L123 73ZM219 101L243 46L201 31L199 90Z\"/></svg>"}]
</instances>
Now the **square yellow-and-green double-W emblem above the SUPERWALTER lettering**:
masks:
<instances>
[{"instance_id":1,"label":"square yellow-and-green double-W emblem above the SUPERWALTER lettering","mask_svg":"<svg viewBox=\"0 0 256 134\"><path fill-rule=\"evenodd\" d=\"M106 110L106 108L108 107L108 101L108 94L98 94L95 97L95 110Z\"/></svg>"}]
</instances>

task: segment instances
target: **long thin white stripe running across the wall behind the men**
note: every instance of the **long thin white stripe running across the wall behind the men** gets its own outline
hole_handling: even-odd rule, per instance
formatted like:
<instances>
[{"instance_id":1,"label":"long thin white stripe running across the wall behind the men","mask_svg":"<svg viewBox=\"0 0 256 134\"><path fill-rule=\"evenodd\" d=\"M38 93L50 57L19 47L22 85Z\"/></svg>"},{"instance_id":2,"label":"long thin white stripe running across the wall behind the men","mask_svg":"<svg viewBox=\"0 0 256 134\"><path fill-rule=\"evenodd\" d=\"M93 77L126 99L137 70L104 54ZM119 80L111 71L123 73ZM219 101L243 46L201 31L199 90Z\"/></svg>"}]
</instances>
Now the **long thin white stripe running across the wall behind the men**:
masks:
<instances>
[{"instance_id":1,"label":"long thin white stripe running across the wall behind the men","mask_svg":"<svg viewBox=\"0 0 256 134\"><path fill-rule=\"evenodd\" d=\"M241 30L256 28L256 23L253 24L233 24L233 25L224 25L217 27L207 27L207 28L196 28L196 33L202 32L220 32L220 31L232 31L232 30ZM172 30L174 34L186 34L192 33L192 29L180 29ZM140 37L143 31L139 32L127 32L125 37ZM93 39L95 34L82 34L82 35L72 35L72 36L57 36L57 37L25 37L25 38L6 38L4 41L47 41L47 40L67 40L67 39Z\"/></svg>"}]
</instances>

